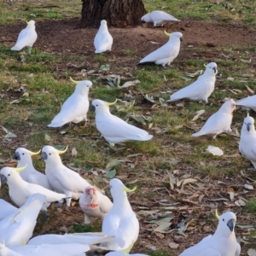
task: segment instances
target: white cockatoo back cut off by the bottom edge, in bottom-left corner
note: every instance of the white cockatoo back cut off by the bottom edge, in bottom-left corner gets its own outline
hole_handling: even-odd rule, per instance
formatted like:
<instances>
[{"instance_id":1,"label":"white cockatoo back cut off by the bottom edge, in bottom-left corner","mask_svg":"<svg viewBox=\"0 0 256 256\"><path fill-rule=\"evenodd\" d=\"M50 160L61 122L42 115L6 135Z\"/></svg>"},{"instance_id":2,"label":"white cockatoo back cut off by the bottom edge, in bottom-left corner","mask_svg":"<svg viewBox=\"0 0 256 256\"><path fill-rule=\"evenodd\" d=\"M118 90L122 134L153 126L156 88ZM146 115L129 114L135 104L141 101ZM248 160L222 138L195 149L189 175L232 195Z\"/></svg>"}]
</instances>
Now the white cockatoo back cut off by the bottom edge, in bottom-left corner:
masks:
<instances>
[{"instance_id":1,"label":"white cockatoo back cut off by the bottom edge, in bottom-left corner","mask_svg":"<svg viewBox=\"0 0 256 256\"><path fill-rule=\"evenodd\" d=\"M23 245L20 247L7 247L4 243L0 244L1 256L85 256L85 252L89 250L90 246L81 243Z\"/></svg>"}]
</instances>

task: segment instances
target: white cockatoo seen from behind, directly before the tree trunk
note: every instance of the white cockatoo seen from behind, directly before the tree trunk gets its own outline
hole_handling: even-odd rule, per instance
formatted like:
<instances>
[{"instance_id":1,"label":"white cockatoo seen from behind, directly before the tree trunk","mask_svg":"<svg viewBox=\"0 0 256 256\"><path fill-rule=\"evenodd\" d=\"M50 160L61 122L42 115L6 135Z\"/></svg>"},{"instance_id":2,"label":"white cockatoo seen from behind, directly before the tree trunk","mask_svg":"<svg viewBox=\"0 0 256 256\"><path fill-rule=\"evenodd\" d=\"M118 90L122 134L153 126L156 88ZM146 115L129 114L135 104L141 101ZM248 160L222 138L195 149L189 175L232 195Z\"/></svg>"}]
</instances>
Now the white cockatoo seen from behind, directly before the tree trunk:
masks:
<instances>
[{"instance_id":1,"label":"white cockatoo seen from behind, directly before the tree trunk","mask_svg":"<svg viewBox=\"0 0 256 256\"><path fill-rule=\"evenodd\" d=\"M102 53L107 50L112 49L113 38L108 32L108 25L106 20L101 21L101 26L99 31L96 33L94 38L94 46L96 48L96 53Z\"/></svg>"}]
</instances>

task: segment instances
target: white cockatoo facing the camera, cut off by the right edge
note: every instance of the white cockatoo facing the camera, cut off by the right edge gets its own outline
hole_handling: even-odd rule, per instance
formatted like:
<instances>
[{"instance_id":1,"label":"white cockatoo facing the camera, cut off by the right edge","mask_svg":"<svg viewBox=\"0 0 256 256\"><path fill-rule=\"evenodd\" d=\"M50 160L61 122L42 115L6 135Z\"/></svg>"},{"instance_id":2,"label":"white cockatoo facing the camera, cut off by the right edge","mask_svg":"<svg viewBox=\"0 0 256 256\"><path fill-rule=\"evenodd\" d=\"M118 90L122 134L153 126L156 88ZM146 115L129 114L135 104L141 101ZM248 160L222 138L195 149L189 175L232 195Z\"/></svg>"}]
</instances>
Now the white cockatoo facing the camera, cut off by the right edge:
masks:
<instances>
[{"instance_id":1,"label":"white cockatoo facing the camera, cut off by the right edge","mask_svg":"<svg viewBox=\"0 0 256 256\"><path fill-rule=\"evenodd\" d=\"M251 161L254 169L256 169L256 131L254 119L251 116L247 116L243 120L239 151L245 158Z\"/></svg>"}]
</instances>

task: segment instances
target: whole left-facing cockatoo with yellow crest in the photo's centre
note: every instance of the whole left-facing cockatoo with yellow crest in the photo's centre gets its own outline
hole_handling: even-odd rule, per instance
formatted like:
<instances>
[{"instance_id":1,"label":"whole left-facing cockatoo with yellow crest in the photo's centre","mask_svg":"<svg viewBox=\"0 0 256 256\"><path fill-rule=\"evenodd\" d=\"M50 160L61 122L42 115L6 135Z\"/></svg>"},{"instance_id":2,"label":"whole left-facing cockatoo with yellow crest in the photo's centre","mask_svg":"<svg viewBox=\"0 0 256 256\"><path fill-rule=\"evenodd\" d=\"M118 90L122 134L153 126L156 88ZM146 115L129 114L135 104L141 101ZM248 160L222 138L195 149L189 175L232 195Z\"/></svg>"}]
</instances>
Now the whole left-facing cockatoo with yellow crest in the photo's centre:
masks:
<instances>
[{"instance_id":1,"label":"whole left-facing cockatoo with yellow crest in the photo's centre","mask_svg":"<svg viewBox=\"0 0 256 256\"><path fill-rule=\"evenodd\" d=\"M123 119L110 113L109 106L115 102L108 103L101 100L91 102L91 109L96 112L96 128L102 133L105 140L111 145L128 140L150 140L153 135L148 134L148 131L129 125Z\"/></svg>"}]
</instances>

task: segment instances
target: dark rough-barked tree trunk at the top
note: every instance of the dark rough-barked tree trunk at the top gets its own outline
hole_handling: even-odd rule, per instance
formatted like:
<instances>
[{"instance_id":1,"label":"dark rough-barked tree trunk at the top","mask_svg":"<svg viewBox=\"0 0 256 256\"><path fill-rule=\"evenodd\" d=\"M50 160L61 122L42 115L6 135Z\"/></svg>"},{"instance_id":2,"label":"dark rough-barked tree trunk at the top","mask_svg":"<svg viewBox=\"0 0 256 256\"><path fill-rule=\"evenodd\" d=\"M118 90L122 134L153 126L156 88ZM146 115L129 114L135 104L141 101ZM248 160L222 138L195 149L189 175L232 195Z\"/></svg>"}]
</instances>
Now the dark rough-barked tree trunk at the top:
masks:
<instances>
[{"instance_id":1,"label":"dark rough-barked tree trunk at the top","mask_svg":"<svg viewBox=\"0 0 256 256\"><path fill-rule=\"evenodd\" d=\"M108 26L127 27L141 24L146 14L142 0L82 0L81 26L100 26L107 20Z\"/></svg>"}]
</instances>

